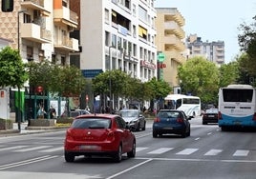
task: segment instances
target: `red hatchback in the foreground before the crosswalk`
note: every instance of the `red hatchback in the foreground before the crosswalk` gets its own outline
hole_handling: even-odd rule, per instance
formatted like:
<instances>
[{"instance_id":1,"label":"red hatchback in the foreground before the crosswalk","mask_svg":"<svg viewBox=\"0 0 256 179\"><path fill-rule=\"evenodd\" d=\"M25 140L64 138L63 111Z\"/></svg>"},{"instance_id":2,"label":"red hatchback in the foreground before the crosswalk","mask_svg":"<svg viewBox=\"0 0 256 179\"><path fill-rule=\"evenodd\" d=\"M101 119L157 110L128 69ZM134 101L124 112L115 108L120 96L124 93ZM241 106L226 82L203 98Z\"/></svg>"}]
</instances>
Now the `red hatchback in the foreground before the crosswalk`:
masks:
<instances>
[{"instance_id":1,"label":"red hatchback in the foreground before the crosswalk","mask_svg":"<svg viewBox=\"0 0 256 179\"><path fill-rule=\"evenodd\" d=\"M64 143L66 162L75 156L111 156L120 162L122 154L136 155L136 138L129 126L114 114L86 114L77 116L67 129Z\"/></svg>"}]
</instances>

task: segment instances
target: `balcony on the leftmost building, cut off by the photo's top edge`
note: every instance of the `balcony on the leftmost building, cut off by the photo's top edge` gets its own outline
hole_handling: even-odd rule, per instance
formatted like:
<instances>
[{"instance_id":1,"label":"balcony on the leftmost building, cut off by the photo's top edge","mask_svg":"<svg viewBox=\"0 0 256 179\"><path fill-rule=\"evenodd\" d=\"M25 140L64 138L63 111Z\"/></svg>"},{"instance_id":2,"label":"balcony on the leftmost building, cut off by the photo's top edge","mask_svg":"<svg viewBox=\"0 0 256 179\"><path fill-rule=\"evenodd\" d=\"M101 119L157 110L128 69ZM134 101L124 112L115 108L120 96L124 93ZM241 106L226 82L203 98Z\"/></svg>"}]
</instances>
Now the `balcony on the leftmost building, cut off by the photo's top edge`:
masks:
<instances>
[{"instance_id":1,"label":"balcony on the leftmost building, cut off by the photo's top edge","mask_svg":"<svg viewBox=\"0 0 256 179\"><path fill-rule=\"evenodd\" d=\"M51 11L44 6L45 0L23 0L20 5L24 9L39 10L43 16L49 16Z\"/></svg>"}]
</instances>

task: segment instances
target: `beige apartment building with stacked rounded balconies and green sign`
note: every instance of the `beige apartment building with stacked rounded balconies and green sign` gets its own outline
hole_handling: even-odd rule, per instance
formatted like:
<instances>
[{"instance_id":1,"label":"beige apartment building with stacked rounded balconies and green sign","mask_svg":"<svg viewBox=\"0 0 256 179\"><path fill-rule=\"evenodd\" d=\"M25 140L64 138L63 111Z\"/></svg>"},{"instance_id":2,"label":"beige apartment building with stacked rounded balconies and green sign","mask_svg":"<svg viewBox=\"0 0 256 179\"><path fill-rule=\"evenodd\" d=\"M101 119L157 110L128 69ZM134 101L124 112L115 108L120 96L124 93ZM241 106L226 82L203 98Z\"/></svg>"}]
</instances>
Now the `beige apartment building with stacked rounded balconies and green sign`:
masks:
<instances>
[{"instance_id":1,"label":"beige apartment building with stacked rounded balconies and green sign","mask_svg":"<svg viewBox=\"0 0 256 179\"><path fill-rule=\"evenodd\" d=\"M156 45L161 58L158 60L159 78L171 87L179 86L177 79L178 67L185 62L182 55L185 50L183 39L185 32L182 27L185 20L176 8L157 8Z\"/></svg>"}]
</instances>

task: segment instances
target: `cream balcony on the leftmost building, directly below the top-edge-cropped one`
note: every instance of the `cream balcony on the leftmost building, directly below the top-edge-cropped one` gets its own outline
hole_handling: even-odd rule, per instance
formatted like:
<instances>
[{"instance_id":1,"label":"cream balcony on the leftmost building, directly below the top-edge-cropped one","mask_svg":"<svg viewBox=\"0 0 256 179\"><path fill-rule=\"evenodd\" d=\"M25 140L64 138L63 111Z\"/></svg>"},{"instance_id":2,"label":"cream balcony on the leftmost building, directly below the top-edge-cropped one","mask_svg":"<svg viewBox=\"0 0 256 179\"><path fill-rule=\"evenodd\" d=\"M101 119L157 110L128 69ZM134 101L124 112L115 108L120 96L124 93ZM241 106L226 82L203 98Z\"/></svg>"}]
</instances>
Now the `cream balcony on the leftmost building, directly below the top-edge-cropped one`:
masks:
<instances>
[{"instance_id":1,"label":"cream balcony on the leftmost building, directly below the top-edge-cropped one","mask_svg":"<svg viewBox=\"0 0 256 179\"><path fill-rule=\"evenodd\" d=\"M38 43L51 43L52 33L50 30L42 29L39 25L33 23L24 23L20 25L20 37Z\"/></svg>"}]
</instances>

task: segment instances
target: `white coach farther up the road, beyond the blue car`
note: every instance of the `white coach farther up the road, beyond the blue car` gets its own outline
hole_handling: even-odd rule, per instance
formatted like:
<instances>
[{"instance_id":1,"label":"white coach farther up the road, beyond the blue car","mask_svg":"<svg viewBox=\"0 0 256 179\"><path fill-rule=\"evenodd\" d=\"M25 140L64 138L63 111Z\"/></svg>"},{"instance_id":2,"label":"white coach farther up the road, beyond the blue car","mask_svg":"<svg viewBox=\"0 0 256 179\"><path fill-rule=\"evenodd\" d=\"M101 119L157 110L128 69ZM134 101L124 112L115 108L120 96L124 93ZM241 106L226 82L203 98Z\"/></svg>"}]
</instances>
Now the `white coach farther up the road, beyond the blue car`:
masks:
<instances>
[{"instance_id":1,"label":"white coach farther up the road, beyond the blue car","mask_svg":"<svg viewBox=\"0 0 256 179\"><path fill-rule=\"evenodd\" d=\"M198 96L169 94L164 98L165 109L183 110L189 117L201 115L201 99Z\"/></svg>"}]
</instances>

